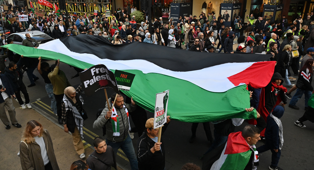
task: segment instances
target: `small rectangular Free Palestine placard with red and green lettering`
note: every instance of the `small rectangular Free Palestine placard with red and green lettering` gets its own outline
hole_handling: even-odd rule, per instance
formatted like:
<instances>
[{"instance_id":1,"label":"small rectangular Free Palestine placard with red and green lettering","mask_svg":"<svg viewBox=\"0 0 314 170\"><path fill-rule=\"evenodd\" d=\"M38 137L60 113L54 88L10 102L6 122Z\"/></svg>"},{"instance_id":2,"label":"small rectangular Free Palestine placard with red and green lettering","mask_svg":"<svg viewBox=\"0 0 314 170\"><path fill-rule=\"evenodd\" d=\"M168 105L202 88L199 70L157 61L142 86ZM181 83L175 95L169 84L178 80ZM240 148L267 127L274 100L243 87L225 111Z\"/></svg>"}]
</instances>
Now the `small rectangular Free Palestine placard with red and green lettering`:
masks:
<instances>
[{"instance_id":1,"label":"small rectangular Free Palestine placard with red and green lettering","mask_svg":"<svg viewBox=\"0 0 314 170\"><path fill-rule=\"evenodd\" d=\"M135 77L135 74L123 72L120 70L115 71L116 82L120 90L129 91Z\"/></svg>"}]
</instances>

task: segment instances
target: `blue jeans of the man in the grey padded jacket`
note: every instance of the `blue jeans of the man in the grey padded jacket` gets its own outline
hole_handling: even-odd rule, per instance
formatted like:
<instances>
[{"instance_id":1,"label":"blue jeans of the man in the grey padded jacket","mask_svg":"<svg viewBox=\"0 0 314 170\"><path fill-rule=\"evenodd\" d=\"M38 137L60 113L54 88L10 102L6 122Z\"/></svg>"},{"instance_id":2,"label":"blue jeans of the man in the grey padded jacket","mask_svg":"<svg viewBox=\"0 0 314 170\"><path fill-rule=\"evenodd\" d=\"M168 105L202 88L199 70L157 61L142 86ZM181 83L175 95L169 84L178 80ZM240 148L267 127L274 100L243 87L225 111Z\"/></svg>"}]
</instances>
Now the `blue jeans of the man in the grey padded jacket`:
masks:
<instances>
[{"instance_id":1,"label":"blue jeans of the man in the grey padded jacket","mask_svg":"<svg viewBox=\"0 0 314 170\"><path fill-rule=\"evenodd\" d=\"M113 143L106 139L106 143L113 148L115 154L117 154L118 149L121 148L130 161L131 169L138 170L138 161L134 152L132 139L129 134L127 134L127 137L122 142Z\"/></svg>"}]
</instances>

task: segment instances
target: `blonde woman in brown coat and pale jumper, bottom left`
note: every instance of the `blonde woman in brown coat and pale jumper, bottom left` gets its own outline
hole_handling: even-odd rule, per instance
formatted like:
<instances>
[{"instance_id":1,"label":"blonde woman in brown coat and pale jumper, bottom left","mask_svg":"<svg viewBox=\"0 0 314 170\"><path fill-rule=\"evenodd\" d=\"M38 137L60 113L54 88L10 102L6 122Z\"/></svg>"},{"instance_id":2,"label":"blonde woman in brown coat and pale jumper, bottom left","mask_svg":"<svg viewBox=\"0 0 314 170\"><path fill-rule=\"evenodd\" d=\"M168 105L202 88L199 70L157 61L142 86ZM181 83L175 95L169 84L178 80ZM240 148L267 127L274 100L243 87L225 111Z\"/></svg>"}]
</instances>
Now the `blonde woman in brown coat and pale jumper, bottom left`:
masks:
<instances>
[{"instance_id":1,"label":"blonde woman in brown coat and pale jumper, bottom left","mask_svg":"<svg viewBox=\"0 0 314 170\"><path fill-rule=\"evenodd\" d=\"M59 170L50 134L35 120L26 124L19 156L23 170Z\"/></svg>"}]
</instances>

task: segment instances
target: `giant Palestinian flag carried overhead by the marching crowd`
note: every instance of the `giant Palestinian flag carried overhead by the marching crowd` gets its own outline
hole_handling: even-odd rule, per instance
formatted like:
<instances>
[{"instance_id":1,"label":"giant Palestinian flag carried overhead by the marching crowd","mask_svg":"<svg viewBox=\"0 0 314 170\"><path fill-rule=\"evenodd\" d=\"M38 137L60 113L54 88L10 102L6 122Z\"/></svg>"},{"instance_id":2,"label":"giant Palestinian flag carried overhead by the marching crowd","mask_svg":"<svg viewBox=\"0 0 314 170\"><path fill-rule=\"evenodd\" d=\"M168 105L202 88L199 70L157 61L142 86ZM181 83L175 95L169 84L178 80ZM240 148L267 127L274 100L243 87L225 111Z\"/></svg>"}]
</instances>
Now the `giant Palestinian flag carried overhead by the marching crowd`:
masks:
<instances>
[{"instance_id":1,"label":"giant Palestinian flag carried overhead by the marching crowd","mask_svg":"<svg viewBox=\"0 0 314 170\"><path fill-rule=\"evenodd\" d=\"M135 74L128 97L154 112L156 93L171 91L168 113L184 122L256 118L246 84L265 87L275 62L270 55L197 53L143 42L114 45L102 36L79 34L42 44L37 49L8 44L25 57L57 60L78 68L104 64L113 72Z\"/></svg>"}]
</instances>

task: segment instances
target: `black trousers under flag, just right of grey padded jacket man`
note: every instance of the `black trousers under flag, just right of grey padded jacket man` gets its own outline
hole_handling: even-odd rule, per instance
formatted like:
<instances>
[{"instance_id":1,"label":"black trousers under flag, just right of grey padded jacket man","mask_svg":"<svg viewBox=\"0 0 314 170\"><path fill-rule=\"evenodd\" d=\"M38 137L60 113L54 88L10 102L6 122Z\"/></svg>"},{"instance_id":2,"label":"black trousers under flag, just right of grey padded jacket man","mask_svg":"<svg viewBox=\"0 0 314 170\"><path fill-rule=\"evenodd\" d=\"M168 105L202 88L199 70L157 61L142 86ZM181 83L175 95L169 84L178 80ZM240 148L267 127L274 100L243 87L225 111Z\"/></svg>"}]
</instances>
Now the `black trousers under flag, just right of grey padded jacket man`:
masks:
<instances>
[{"instance_id":1,"label":"black trousers under flag, just right of grey padded jacket man","mask_svg":"<svg viewBox=\"0 0 314 170\"><path fill-rule=\"evenodd\" d=\"M145 131L145 124L147 121L147 113L144 108L137 105L136 109L133 112L130 112L131 119L135 125L134 128L131 129L132 133L138 133L138 137L141 137L143 132Z\"/></svg>"}]
</instances>

